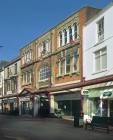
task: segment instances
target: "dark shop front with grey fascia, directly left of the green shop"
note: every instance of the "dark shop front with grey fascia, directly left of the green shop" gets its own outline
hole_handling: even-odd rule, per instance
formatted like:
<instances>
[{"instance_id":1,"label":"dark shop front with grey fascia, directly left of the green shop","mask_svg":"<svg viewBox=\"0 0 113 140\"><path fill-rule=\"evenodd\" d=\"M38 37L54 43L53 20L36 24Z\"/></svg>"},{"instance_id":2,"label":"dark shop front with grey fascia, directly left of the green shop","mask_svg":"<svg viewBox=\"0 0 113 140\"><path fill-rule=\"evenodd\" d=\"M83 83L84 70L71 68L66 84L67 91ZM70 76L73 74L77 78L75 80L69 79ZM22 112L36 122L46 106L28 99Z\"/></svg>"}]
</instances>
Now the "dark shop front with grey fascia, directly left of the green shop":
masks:
<instances>
[{"instance_id":1,"label":"dark shop front with grey fascia, directly left of the green shop","mask_svg":"<svg viewBox=\"0 0 113 140\"><path fill-rule=\"evenodd\" d=\"M51 96L54 96L54 105L53 105L54 113L57 110L60 110L62 117L73 118L73 116L76 113L82 112L80 91L78 92L62 91L62 93L55 93L54 95Z\"/></svg>"}]
</instances>

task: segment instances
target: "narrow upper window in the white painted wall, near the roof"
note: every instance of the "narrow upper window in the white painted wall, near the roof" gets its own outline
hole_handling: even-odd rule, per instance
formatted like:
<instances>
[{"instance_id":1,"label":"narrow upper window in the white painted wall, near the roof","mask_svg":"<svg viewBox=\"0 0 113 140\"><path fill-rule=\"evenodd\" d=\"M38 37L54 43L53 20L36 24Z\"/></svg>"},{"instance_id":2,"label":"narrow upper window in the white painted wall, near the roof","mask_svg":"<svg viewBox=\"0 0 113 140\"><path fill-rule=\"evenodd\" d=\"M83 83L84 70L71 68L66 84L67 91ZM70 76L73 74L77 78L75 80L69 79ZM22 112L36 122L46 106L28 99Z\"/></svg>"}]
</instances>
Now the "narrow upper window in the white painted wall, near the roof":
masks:
<instances>
[{"instance_id":1,"label":"narrow upper window in the white painted wall, near the roof","mask_svg":"<svg viewBox=\"0 0 113 140\"><path fill-rule=\"evenodd\" d=\"M104 39L104 18L99 20L97 23L97 31L98 31L98 41L101 41Z\"/></svg>"}]
</instances>

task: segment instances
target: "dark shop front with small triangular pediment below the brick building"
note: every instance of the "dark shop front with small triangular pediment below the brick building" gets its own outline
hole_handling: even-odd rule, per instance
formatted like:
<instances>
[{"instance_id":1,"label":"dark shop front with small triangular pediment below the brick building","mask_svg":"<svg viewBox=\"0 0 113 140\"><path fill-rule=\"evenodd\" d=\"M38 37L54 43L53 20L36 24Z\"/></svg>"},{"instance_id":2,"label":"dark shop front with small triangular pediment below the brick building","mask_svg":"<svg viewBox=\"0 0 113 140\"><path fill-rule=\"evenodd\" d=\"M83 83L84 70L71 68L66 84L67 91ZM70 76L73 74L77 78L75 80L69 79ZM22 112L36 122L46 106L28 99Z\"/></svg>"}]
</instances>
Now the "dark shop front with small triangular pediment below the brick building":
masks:
<instances>
[{"instance_id":1,"label":"dark shop front with small triangular pediment below the brick building","mask_svg":"<svg viewBox=\"0 0 113 140\"><path fill-rule=\"evenodd\" d=\"M49 115L49 98L47 93L24 89L19 95L19 115L47 117Z\"/></svg>"}]
</instances>

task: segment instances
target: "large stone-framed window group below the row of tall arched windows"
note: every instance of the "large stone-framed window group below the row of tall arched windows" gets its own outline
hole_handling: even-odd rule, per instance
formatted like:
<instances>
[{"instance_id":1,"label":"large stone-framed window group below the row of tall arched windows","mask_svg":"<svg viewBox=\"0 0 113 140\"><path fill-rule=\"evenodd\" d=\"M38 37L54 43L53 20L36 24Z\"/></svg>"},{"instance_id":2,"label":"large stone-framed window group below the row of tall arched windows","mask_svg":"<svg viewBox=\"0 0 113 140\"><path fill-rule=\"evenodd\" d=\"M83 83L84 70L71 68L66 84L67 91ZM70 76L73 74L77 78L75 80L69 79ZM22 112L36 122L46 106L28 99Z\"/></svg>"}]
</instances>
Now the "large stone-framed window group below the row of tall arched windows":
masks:
<instances>
[{"instance_id":1,"label":"large stone-framed window group below the row of tall arched windows","mask_svg":"<svg viewBox=\"0 0 113 140\"><path fill-rule=\"evenodd\" d=\"M78 72L78 47L74 47L58 54L58 76Z\"/></svg>"}]
</instances>

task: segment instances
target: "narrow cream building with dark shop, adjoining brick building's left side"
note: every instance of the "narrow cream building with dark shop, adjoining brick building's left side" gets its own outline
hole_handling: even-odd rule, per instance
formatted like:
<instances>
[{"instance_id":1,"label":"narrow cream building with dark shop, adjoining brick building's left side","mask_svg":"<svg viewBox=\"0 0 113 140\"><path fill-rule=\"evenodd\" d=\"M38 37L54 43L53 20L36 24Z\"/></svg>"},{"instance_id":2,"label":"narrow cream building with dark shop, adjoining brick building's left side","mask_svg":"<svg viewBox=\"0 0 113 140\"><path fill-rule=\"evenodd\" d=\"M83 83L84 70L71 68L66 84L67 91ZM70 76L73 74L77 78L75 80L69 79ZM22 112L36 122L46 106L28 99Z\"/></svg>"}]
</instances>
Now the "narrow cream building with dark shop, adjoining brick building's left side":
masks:
<instances>
[{"instance_id":1,"label":"narrow cream building with dark shop, adjoining brick building's left side","mask_svg":"<svg viewBox=\"0 0 113 140\"><path fill-rule=\"evenodd\" d=\"M20 86L20 58L16 58L4 67L4 95L2 97L2 112L18 114L18 94Z\"/></svg>"}]
</instances>

